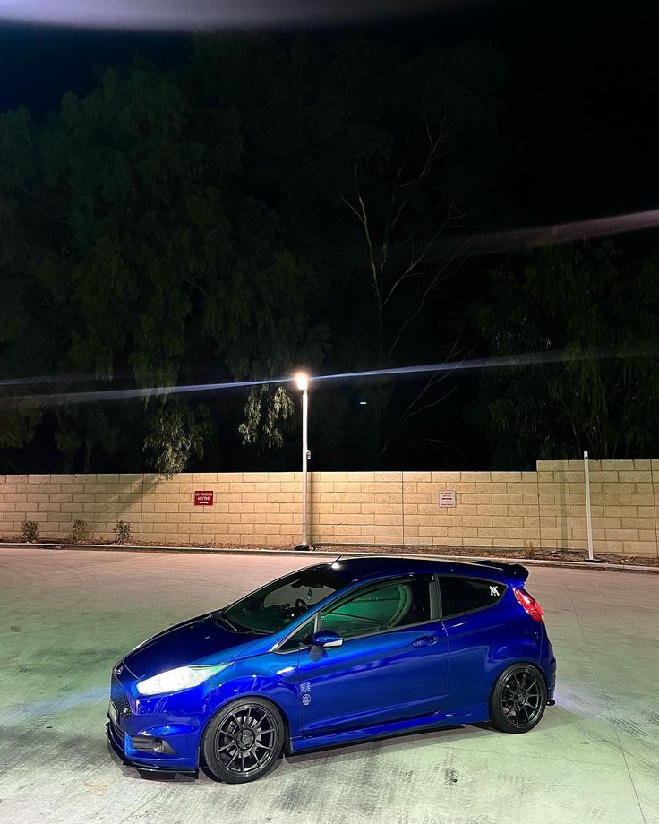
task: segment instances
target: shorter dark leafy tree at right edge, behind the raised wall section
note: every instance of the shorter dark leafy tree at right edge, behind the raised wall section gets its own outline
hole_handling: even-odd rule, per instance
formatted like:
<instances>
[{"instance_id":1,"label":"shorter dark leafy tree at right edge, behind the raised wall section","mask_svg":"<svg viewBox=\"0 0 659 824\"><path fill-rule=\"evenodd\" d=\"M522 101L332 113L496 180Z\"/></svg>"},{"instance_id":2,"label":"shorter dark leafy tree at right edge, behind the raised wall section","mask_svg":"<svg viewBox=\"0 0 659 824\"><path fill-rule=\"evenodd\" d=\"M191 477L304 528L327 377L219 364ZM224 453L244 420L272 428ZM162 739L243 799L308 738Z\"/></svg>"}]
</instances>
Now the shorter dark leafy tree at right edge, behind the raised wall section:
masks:
<instances>
[{"instance_id":1,"label":"shorter dark leafy tree at right edge, behind the raised wall section","mask_svg":"<svg viewBox=\"0 0 659 824\"><path fill-rule=\"evenodd\" d=\"M497 465L655 446L658 272L659 258L629 260L611 245L533 251L494 272L478 314L492 354L540 353L534 365L484 373ZM546 364L544 352L565 357Z\"/></svg>"}]
</instances>

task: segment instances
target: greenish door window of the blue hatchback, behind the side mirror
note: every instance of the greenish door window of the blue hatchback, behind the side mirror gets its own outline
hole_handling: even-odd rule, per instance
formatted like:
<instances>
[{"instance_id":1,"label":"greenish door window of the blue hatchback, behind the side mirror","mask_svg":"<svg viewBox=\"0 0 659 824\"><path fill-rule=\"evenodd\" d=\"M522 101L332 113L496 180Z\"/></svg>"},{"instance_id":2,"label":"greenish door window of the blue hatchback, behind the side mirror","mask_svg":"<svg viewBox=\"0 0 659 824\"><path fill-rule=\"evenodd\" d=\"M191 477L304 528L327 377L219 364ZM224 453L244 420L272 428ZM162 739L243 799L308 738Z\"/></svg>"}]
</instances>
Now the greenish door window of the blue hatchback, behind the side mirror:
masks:
<instances>
[{"instance_id":1,"label":"greenish door window of the blue hatchback, behind the side mirror","mask_svg":"<svg viewBox=\"0 0 659 824\"><path fill-rule=\"evenodd\" d=\"M430 579L418 577L362 589L321 613L321 629L347 639L430 621L430 584Z\"/></svg>"}]
</instances>

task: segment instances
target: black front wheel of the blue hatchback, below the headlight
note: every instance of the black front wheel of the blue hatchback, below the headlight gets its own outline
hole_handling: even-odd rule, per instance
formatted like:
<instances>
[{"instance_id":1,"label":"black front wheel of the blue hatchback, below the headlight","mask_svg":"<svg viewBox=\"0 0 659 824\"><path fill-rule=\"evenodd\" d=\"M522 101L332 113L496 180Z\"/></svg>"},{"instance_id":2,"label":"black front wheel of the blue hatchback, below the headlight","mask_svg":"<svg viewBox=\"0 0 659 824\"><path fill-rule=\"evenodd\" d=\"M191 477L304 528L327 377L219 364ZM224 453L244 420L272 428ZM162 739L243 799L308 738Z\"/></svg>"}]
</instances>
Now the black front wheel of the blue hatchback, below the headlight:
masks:
<instances>
[{"instance_id":1,"label":"black front wheel of the blue hatchback, below the headlight","mask_svg":"<svg viewBox=\"0 0 659 824\"><path fill-rule=\"evenodd\" d=\"M244 698L220 709L201 738L201 765L217 781L246 784L275 768L284 722L270 701Z\"/></svg>"}]
</instances>

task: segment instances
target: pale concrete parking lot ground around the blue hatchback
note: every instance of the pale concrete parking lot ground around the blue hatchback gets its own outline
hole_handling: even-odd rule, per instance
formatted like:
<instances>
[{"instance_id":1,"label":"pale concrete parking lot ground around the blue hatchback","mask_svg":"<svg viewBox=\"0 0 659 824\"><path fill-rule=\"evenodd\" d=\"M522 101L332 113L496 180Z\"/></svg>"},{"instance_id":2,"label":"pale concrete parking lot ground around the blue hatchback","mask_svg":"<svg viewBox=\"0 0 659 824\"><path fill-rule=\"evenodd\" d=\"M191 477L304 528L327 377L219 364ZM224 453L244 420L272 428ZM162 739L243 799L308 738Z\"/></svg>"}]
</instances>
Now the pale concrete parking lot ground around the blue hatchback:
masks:
<instances>
[{"instance_id":1,"label":"pale concrete parking lot ground around the blue hatchback","mask_svg":"<svg viewBox=\"0 0 659 824\"><path fill-rule=\"evenodd\" d=\"M0 821L659 824L659 576L534 568L557 706L294 756L252 785L143 779L107 751L110 667L320 558L0 548Z\"/></svg>"}]
</instances>

